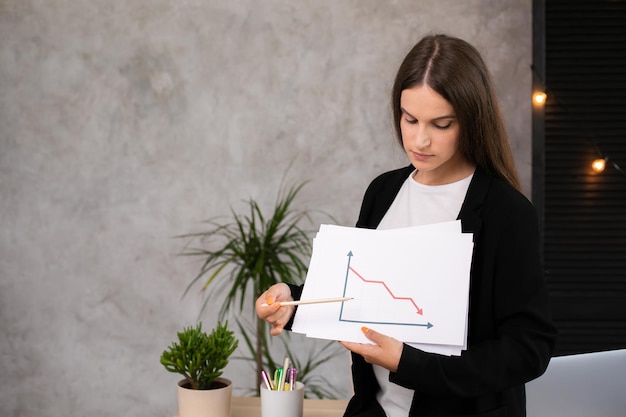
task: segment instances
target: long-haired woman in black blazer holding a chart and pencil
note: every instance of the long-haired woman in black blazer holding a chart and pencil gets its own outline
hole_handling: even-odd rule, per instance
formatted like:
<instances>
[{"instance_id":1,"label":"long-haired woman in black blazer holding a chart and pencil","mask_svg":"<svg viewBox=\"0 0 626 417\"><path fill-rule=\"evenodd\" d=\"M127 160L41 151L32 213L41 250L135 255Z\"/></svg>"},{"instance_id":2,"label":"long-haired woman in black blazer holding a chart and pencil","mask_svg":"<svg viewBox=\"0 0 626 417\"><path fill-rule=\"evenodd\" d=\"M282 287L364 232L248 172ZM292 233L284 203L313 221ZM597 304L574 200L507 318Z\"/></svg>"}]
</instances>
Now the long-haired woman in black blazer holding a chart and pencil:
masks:
<instances>
[{"instance_id":1,"label":"long-haired woman in black blazer holding a chart and pencil","mask_svg":"<svg viewBox=\"0 0 626 417\"><path fill-rule=\"evenodd\" d=\"M427 36L398 70L394 123L411 165L370 184L357 227L460 219L473 233L468 344L426 353L363 328L352 352L351 416L525 416L524 384L546 369L556 329L539 253L536 211L521 194L487 68L467 42ZM301 287L277 284L257 300L272 334L290 328Z\"/></svg>"}]
</instances>

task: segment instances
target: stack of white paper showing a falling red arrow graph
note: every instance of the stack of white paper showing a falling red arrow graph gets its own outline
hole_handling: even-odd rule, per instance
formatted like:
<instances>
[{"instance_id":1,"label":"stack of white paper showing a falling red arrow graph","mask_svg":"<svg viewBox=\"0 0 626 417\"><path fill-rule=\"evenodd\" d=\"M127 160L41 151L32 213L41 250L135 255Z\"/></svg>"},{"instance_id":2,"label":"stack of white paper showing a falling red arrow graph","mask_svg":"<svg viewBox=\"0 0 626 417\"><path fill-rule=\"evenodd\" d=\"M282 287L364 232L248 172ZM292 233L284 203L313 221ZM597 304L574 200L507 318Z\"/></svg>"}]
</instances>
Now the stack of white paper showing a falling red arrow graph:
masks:
<instances>
[{"instance_id":1,"label":"stack of white paper showing a falling red arrow graph","mask_svg":"<svg viewBox=\"0 0 626 417\"><path fill-rule=\"evenodd\" d=\"M366 326L424 351L466 348L472 235L460 221L390 230L322 225L292 330L371 343Z\"/></svg>"}]
</instances>

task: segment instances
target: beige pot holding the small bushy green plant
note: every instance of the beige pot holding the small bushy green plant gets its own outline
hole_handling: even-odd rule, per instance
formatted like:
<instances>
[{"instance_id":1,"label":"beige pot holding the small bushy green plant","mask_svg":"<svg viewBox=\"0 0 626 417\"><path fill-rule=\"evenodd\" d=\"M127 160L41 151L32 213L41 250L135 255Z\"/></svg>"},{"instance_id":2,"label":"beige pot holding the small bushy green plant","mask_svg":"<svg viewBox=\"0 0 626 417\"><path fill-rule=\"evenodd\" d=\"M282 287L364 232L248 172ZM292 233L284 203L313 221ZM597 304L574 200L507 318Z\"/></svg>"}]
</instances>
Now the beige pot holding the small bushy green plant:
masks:
<instances>
[{"instance_id":1,"label":"beige pot holding the small bushy green plant","mask_svg":"<svg viewBox=\"0 0 626 417\"><path fill-rule=\"evenodd\" d=\"M233 385L229 379L217 378L217 388L186 388L187 380L178 383L178 417L230 417Z\"/></svg>"}]
</instances>

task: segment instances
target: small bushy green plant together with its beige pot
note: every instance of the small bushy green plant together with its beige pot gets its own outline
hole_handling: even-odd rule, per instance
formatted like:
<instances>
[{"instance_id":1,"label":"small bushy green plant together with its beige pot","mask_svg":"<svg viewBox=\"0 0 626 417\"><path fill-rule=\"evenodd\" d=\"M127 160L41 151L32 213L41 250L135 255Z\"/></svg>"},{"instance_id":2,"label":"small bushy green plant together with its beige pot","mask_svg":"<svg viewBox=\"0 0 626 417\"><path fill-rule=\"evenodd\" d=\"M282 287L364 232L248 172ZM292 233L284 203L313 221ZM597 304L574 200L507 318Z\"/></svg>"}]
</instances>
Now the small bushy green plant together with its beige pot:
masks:
<instances>
[{"instance_id":1,"label":"small bushy green plant together with its beige pot","mask_svg":"<svg viewBox=\"0 0 626 417\"><path fill-rule=\"evenodd\" d=\"M198 323L177 335L161 354L161 364L184 377L178 383L178 416L230 417L232 382L221 375L239 341L228 322L218 322L209 334Z\"/></svg>"}]
</instances>

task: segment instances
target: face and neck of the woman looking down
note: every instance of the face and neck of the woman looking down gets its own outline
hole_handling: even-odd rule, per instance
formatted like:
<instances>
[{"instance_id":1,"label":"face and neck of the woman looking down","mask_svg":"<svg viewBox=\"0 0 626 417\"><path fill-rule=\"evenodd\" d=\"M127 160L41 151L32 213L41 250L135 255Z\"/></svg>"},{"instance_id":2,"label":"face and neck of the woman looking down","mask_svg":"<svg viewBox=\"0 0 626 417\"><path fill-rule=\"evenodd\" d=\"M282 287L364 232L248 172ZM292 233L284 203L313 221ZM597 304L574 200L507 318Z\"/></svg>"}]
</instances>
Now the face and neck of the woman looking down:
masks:
<instances>
[{"instance_id":1,"label":"face and neck of the woman looking down","mask_svg":"<svg viewBox=\"0 0 626 417\"><path fill-rule=\"evenodd\" d=\"M460 127L452 105L427 85L400 96L402 144L417 169L415 180L449 184L467 177L473 166L459 150Z\"/></svg>"}]
</instances>

